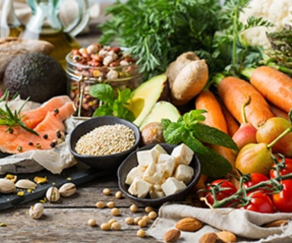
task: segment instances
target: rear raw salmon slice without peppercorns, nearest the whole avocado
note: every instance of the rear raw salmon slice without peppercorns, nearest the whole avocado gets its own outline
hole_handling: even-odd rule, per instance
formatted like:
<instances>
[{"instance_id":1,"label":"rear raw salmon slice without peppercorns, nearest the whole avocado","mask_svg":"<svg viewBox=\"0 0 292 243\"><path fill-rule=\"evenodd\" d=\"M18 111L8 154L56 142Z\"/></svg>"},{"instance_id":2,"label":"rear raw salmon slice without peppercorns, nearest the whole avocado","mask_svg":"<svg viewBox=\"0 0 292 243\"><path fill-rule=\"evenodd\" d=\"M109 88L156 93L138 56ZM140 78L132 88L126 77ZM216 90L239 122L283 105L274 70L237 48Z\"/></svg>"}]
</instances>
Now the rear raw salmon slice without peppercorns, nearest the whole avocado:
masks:
<instances>
[{"instance_id":1,"label":"rear raw salmon slice without peppercorns, nearest the whole avocado","mask_svg":"<svg viewBox=\"0 0 292 243\"><path fill-rule=\"evenodd\" d=\"M62 105L71 102L72 101L69 96L56 96L42 104L37 109L23 112L21 115L25 115L25 117L22 118L22 121L27 127L33 129L37 126L39 122L44 120L48 111L54 111L55 109L60 108Z\"/></svg>"}]
</instances>

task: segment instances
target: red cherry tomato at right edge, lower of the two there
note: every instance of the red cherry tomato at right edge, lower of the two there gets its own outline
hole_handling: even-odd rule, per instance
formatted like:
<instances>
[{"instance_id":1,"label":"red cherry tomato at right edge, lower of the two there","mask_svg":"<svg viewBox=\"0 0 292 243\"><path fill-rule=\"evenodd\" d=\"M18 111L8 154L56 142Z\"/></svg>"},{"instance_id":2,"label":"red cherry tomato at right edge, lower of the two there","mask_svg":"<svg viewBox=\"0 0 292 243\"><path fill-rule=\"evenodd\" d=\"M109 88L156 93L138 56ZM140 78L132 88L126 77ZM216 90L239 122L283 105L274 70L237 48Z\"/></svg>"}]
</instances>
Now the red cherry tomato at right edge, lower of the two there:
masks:
<instances>
[{"instance_id":1,"label":"red cherry tomato at right edge, lower of the two there","mask_svg":"<svg viewBox=\"0 0 292 243\"><path fill-rule=\"evenodd\" d=\"M283 190L273 194L275 208L280 212L292 212L292 179L280 182Z\"/></svg>"}]
</instances>

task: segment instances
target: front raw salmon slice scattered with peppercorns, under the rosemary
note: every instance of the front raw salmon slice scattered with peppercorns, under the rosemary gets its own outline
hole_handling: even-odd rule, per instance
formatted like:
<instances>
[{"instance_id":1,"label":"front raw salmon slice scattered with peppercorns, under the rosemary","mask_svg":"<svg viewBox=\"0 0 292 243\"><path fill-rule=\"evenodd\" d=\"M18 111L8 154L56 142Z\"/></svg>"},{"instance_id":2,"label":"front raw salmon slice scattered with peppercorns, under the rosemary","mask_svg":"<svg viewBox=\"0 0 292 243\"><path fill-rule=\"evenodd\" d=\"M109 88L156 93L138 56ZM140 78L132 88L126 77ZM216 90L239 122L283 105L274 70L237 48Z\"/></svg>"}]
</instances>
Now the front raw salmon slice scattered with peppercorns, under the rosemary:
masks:
<instances>
[{"instance_id":1,"label":"front raw salmon slice scattered with peppercorns, under the rosemary","mask_svg":"<svg viewBox=\"0 0 292 243\"><path fill-rule=\"evenodd\" d=\"M74 113L73 102L68 102L58 108L58 114L48 111L44 119L34 128L39 136L21 127L13 127L13 134L6 133L7 126L0 125L0 150L4 153L18 154L30 150L51 149L52 142L64 136L63 121ZM2 139L3 138L3 139Z\"/></svg>"}]
</instances>

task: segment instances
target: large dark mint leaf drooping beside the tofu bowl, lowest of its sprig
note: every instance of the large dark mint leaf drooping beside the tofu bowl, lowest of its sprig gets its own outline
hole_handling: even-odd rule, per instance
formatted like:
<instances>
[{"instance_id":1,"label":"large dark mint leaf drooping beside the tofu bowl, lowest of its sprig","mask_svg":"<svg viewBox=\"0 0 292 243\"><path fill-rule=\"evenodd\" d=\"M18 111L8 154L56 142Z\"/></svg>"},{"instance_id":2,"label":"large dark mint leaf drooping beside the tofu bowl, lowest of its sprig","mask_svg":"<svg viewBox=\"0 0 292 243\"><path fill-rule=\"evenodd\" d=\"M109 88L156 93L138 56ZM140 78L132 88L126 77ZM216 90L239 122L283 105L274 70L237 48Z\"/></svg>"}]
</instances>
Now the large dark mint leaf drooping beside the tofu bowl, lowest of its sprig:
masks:
<instances>
[{"instance_id":1,"label":"large dark mint leaf drooping beside the tofu bowl, lowest of its sprig","mask_svg":"<svg viewBox=\"0 0 292 243\"><path fill-rule=\"evenodd\" d=\"M183 143L190 147L198 156L201 163L201 172L208 176L218 178L232 171L231 164L214 150L204 146L191 134L184 136Z\"/></svg>"}]
</instances>

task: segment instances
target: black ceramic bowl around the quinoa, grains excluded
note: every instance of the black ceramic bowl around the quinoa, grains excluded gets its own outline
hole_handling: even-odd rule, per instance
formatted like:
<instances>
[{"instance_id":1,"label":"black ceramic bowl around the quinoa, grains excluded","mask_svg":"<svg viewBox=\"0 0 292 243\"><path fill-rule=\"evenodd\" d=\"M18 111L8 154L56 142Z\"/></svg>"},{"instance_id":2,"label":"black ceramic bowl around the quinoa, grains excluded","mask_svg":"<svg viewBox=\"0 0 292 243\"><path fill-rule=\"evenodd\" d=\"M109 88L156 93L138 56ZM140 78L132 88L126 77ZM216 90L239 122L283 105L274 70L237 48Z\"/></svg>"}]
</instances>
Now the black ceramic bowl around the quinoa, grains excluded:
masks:
<instances>
[{"instance_id":1,"label":"black ceramic bowl around the quinoa, grains excluded","mask_svg":"<svg viewBox=\"0 0 292 243\"><path fill-rule=\"evenodd\" d=\"M118 154L105 155L105 156L88 156L88 155L80 155L75 151L75 146L83 135L92 131L94 128L103 126L103 125L114 125L114 124L123 124L131 128L135 133L135 144L129 150L124 151ZM95 117L90 120L84 121L78 126L76 126L70 136L70 151L73 154L74 158L77 161L83 162L93 168L100 170L114 170L117 169L118 166L122 163L122 161L134 150L137 149L141 140L141 134L139 128L130 121L126 121L124 119L111 117L111 116L103 116L103 117Z\"/></svg>"}]
</instances>

